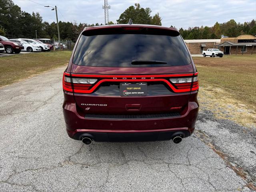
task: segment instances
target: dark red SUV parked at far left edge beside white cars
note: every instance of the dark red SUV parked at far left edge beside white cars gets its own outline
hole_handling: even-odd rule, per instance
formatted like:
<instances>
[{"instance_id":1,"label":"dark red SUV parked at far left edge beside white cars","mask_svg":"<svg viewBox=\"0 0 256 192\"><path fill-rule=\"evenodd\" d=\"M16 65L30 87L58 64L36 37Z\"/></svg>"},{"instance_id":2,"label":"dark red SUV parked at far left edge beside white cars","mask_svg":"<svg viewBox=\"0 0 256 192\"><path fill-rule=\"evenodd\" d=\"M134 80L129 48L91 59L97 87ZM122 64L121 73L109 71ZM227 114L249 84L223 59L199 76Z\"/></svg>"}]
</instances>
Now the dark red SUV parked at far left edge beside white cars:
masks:
<instances>
[{"instance_id":1,"label":"dark red SUV parked at far left edge beside white cars","mask_svg":"<svg viewBox=\"0 0 256 192\"><path fill-rule=\"evenodd\" d=\"M0 43L4 45L4 50L8 54L20 53L24 49L21 43L11 42L5 36L0 36Z\"/></svg>"}]
</instances>

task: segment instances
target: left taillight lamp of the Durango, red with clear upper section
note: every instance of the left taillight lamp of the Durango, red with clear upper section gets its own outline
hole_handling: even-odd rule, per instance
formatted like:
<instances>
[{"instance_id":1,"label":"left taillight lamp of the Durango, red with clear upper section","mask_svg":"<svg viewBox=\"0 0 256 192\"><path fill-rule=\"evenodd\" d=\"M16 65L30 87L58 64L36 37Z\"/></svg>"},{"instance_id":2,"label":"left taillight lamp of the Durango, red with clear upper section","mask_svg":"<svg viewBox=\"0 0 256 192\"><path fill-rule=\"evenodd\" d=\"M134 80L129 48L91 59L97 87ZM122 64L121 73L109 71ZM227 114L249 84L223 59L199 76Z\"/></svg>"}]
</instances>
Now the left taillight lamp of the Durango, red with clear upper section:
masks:
<instances>
[{"instance_id":1,"label":"left taillight lamp of the Durango, red with clear upper section","mask_svg":"<svg viewBox=\"0 0 256 192\"><path fill-rule=\"evenodd\" d=\"M80 90L88 90L97 81L97 79L89 78L72 78L69 73L63 74L63 89L68 92L80 92Z\"/></svg>"}]
</instances>

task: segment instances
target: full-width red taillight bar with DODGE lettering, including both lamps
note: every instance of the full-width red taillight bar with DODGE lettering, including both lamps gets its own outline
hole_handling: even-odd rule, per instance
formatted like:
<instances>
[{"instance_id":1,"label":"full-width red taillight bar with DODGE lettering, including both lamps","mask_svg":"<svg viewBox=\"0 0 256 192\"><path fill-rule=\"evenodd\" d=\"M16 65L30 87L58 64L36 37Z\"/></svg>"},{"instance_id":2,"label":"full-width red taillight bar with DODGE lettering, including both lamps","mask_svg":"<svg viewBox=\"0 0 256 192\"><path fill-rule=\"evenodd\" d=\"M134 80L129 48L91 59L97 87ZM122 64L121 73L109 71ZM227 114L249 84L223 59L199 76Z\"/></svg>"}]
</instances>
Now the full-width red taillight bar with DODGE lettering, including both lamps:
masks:
<instances>
[{"instance_id":1,"label":"full-width red taillight bar with DODGE lettering, including both lamps","mask_svg":"<svg viewBox=\"0 0 256 192\"><path fill-rule=\"evenodd\" d=\"M167 75L63 74L63 90L68 92L90 94L103 82L164 82L175 93L199 89L198 72Z\"/></svg>"}]
</instances>

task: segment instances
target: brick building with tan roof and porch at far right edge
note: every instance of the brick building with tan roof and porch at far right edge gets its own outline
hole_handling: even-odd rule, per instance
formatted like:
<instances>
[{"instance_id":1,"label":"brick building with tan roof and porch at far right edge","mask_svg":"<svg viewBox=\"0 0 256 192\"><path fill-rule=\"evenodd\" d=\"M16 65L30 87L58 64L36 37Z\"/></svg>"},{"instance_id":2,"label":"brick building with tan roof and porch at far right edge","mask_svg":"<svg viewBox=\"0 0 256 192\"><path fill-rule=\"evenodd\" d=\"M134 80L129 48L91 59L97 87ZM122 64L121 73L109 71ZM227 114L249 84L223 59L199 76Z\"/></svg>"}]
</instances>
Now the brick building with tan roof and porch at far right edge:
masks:
<instances>
[{"instance_id":1,"label":"brick building with tan roof and porch at far right edge","mask_svg":"<svg viewBox=\"0 0 256 192\"><path fill-rule=\"evenodd\" d=\"M256 54L256 37L252 35L240 35L238 37L224 37L216 48L224 54Z\"/></svg>"}]
</instances>

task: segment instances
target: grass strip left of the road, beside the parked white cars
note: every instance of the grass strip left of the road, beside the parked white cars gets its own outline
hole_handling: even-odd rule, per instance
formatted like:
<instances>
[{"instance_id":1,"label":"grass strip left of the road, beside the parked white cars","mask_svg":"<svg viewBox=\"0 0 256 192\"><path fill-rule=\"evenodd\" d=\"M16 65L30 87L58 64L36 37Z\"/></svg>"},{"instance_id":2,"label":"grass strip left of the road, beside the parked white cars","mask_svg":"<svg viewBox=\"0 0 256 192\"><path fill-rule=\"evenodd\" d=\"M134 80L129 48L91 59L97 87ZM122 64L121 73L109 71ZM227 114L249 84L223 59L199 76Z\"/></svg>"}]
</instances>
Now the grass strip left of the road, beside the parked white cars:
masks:
<instances>
[{"instance_id":1,"label":"grass strip left of the road, beside the parked white cars","mask_svg":"<svg viewBox=\"0 0 256 192\"><path fill-rule=\"evenodd\" d=\"M51 51L0 57L0 87L64 66L71 51Z\"/></svg>"}]
</instances>

